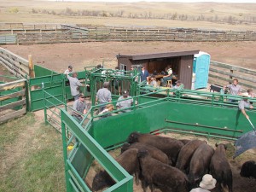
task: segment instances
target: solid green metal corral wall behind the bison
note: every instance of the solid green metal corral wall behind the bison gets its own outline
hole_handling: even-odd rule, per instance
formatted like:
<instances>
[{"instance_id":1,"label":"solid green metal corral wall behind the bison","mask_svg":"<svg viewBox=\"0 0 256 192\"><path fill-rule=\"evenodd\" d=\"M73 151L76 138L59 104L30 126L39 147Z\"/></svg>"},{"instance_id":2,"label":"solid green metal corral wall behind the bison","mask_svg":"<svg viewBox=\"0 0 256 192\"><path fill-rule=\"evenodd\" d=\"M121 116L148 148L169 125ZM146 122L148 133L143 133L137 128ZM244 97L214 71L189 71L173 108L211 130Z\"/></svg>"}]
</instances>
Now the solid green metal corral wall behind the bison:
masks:
<instances>
[{"instance_id":1,"label":"solid green metal corral wall behind the bison","mask_svg":"<svg viewBox=\"0 0 256 192\"><path fill-rule=\"evenodd\" d=\"M249 116L256 114L255 111L247 113ZM94 122L92 129L93 137L106 148L125 142L132 131L150 132L166 127L225 137L239 137L242 134L239 131L244 133L252 130L238 108L168 101L99 119Z\"/></svg>"}]
</instances>

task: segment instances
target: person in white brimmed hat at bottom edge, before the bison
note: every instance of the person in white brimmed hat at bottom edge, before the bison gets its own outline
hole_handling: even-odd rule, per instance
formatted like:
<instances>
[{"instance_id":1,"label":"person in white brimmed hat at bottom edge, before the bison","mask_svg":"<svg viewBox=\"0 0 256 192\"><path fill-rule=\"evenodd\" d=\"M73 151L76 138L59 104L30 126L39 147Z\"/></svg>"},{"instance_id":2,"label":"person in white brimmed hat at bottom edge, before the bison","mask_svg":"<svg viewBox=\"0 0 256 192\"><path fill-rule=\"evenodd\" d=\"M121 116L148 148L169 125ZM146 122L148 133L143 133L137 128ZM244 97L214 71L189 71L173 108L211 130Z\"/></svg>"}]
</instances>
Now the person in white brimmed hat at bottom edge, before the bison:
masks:
<instances>
[{"instance_id":1,"label":"person in white brimmed hat at bottom edge, before the bison","mask_svg":"<svg viewBox=\"0 0 256 192\"><path fill-rule=\"evenodd\" d=\"M206 174L202 177L200 188L195 188L190 190L190 192L210 192L210 189L214 189L216 184L216 179L212 175Z\"/></svg>"}]
</instances>

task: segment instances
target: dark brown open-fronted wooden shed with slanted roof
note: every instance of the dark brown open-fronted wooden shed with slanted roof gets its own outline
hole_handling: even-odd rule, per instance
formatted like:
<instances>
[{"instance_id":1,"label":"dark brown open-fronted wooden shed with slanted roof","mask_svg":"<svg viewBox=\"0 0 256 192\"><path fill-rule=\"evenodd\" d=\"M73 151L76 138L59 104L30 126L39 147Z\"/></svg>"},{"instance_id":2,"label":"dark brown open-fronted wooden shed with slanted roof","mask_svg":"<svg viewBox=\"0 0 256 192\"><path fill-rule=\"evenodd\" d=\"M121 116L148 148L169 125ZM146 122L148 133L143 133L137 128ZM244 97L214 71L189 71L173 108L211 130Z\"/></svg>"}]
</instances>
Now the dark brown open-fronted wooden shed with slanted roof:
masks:
<instances>
[{"instance_id":1,"label":"dark brown open-fronted wooden shed with slanted roof","mask_svg":"<svg viewBox=\"0 0 256 192\"><path fill-rule=\"evenodd\" d=\"M185 89L191 89L194 55L199 50L175 51L143 55L117 55L118 66L122 70L131 70L133 65L144 66L149 74L160 80L166 67L172 67L173 79L179 79Z\"/></svg>"}]
</instances>

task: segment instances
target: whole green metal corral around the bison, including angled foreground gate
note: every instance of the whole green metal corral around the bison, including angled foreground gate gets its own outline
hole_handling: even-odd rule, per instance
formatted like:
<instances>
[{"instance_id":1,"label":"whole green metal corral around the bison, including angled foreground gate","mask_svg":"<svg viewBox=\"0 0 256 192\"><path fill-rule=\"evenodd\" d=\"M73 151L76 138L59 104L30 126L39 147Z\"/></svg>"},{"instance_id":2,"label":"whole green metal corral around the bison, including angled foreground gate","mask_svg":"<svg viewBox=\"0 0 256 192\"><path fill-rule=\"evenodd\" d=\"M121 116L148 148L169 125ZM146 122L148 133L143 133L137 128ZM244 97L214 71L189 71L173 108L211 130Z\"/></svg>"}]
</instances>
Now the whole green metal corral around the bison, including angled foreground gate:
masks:
<instances>
[{"instance_id":1,"label":"whole green metal corral around the bison, including angled foreground gate","mask_svg":"<svg viewBox=\"0 0 256 192\"><path fill-rule=\"evenodd\" d=\"M93 160L116 182L105 191L133 191L132 177L106 151L125 143L133 131L176 131L230 140L251 131L237 103L226 102L230 96L196 90L159 89L150 92L141 88L139 91L146 94L133 97L138 104L131 106L131 112L117 114L118 111L113 111L113 116L99 119L94 113L97 106L92 106L84 117L89 119L85 126L61 109L67 191L91 191L90 184L84 180ZM164 96L155 96L163 92ZM201 99L191 96L201 96ZM240 100L241 97L237 96L236 99ZM247 113L253 118L256 110L250 109ZM68 137L68 133L72 133L73 137ZM73 150L68 152L67 146L74 140Z\"/></svg>"}]
</instances>

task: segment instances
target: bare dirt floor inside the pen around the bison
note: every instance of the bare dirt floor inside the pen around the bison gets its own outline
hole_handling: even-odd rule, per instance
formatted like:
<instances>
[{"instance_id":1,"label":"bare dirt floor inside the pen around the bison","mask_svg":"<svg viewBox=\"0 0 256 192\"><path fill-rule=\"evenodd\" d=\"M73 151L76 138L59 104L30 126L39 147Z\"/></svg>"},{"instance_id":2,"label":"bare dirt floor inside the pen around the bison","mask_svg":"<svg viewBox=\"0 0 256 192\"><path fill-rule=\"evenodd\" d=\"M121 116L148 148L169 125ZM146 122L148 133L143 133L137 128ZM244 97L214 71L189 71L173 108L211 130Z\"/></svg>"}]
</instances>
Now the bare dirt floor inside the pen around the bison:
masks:
<instances>
[{"instance_id":1,"label":"bare dirt floor inside the pen around the bison","mask_svg":"<svg viewBox=\"0 0 256 192\"><path fill-rule=\"evenodd\" d=\"M236 157L236 159L234 160L233 154L235 152L235 148L234 148L233 142L230 142L230 141L221 141L219 139L206 138L206 137L180 135L177 133L167 133L166 135L161 134L161 136L172 137L176 139L205 140L213 148L215 148L214 147L215 143L225 143L226 146L228 147L226 154L227 154L228 160L230 161L230 166L233 174L233 192L255 192L256 191L256 179L245 178L240 176L241 165L247 160L256 160L256 148L248 150L247 152ZM111 154L114 158L117 157L120 154L120 148L110 151L109 154ZM102 168L99 166L99 164L95 160L93 166L90 167L90 172L86 177L86 183L90 184L91 186L93 177L96 175L96 172L98 172L100 169ZM134 183L133 184L134 191L143 192L143 189L141 188L141 183L139 185L136 185L135 181L133 183ZM150 189L148 188L147 191L149 192ZM212 189L211 191L218 192L217 189ZM160 192L160 190L157 190L157 192Z\"/></svg>"}]
</instances>

